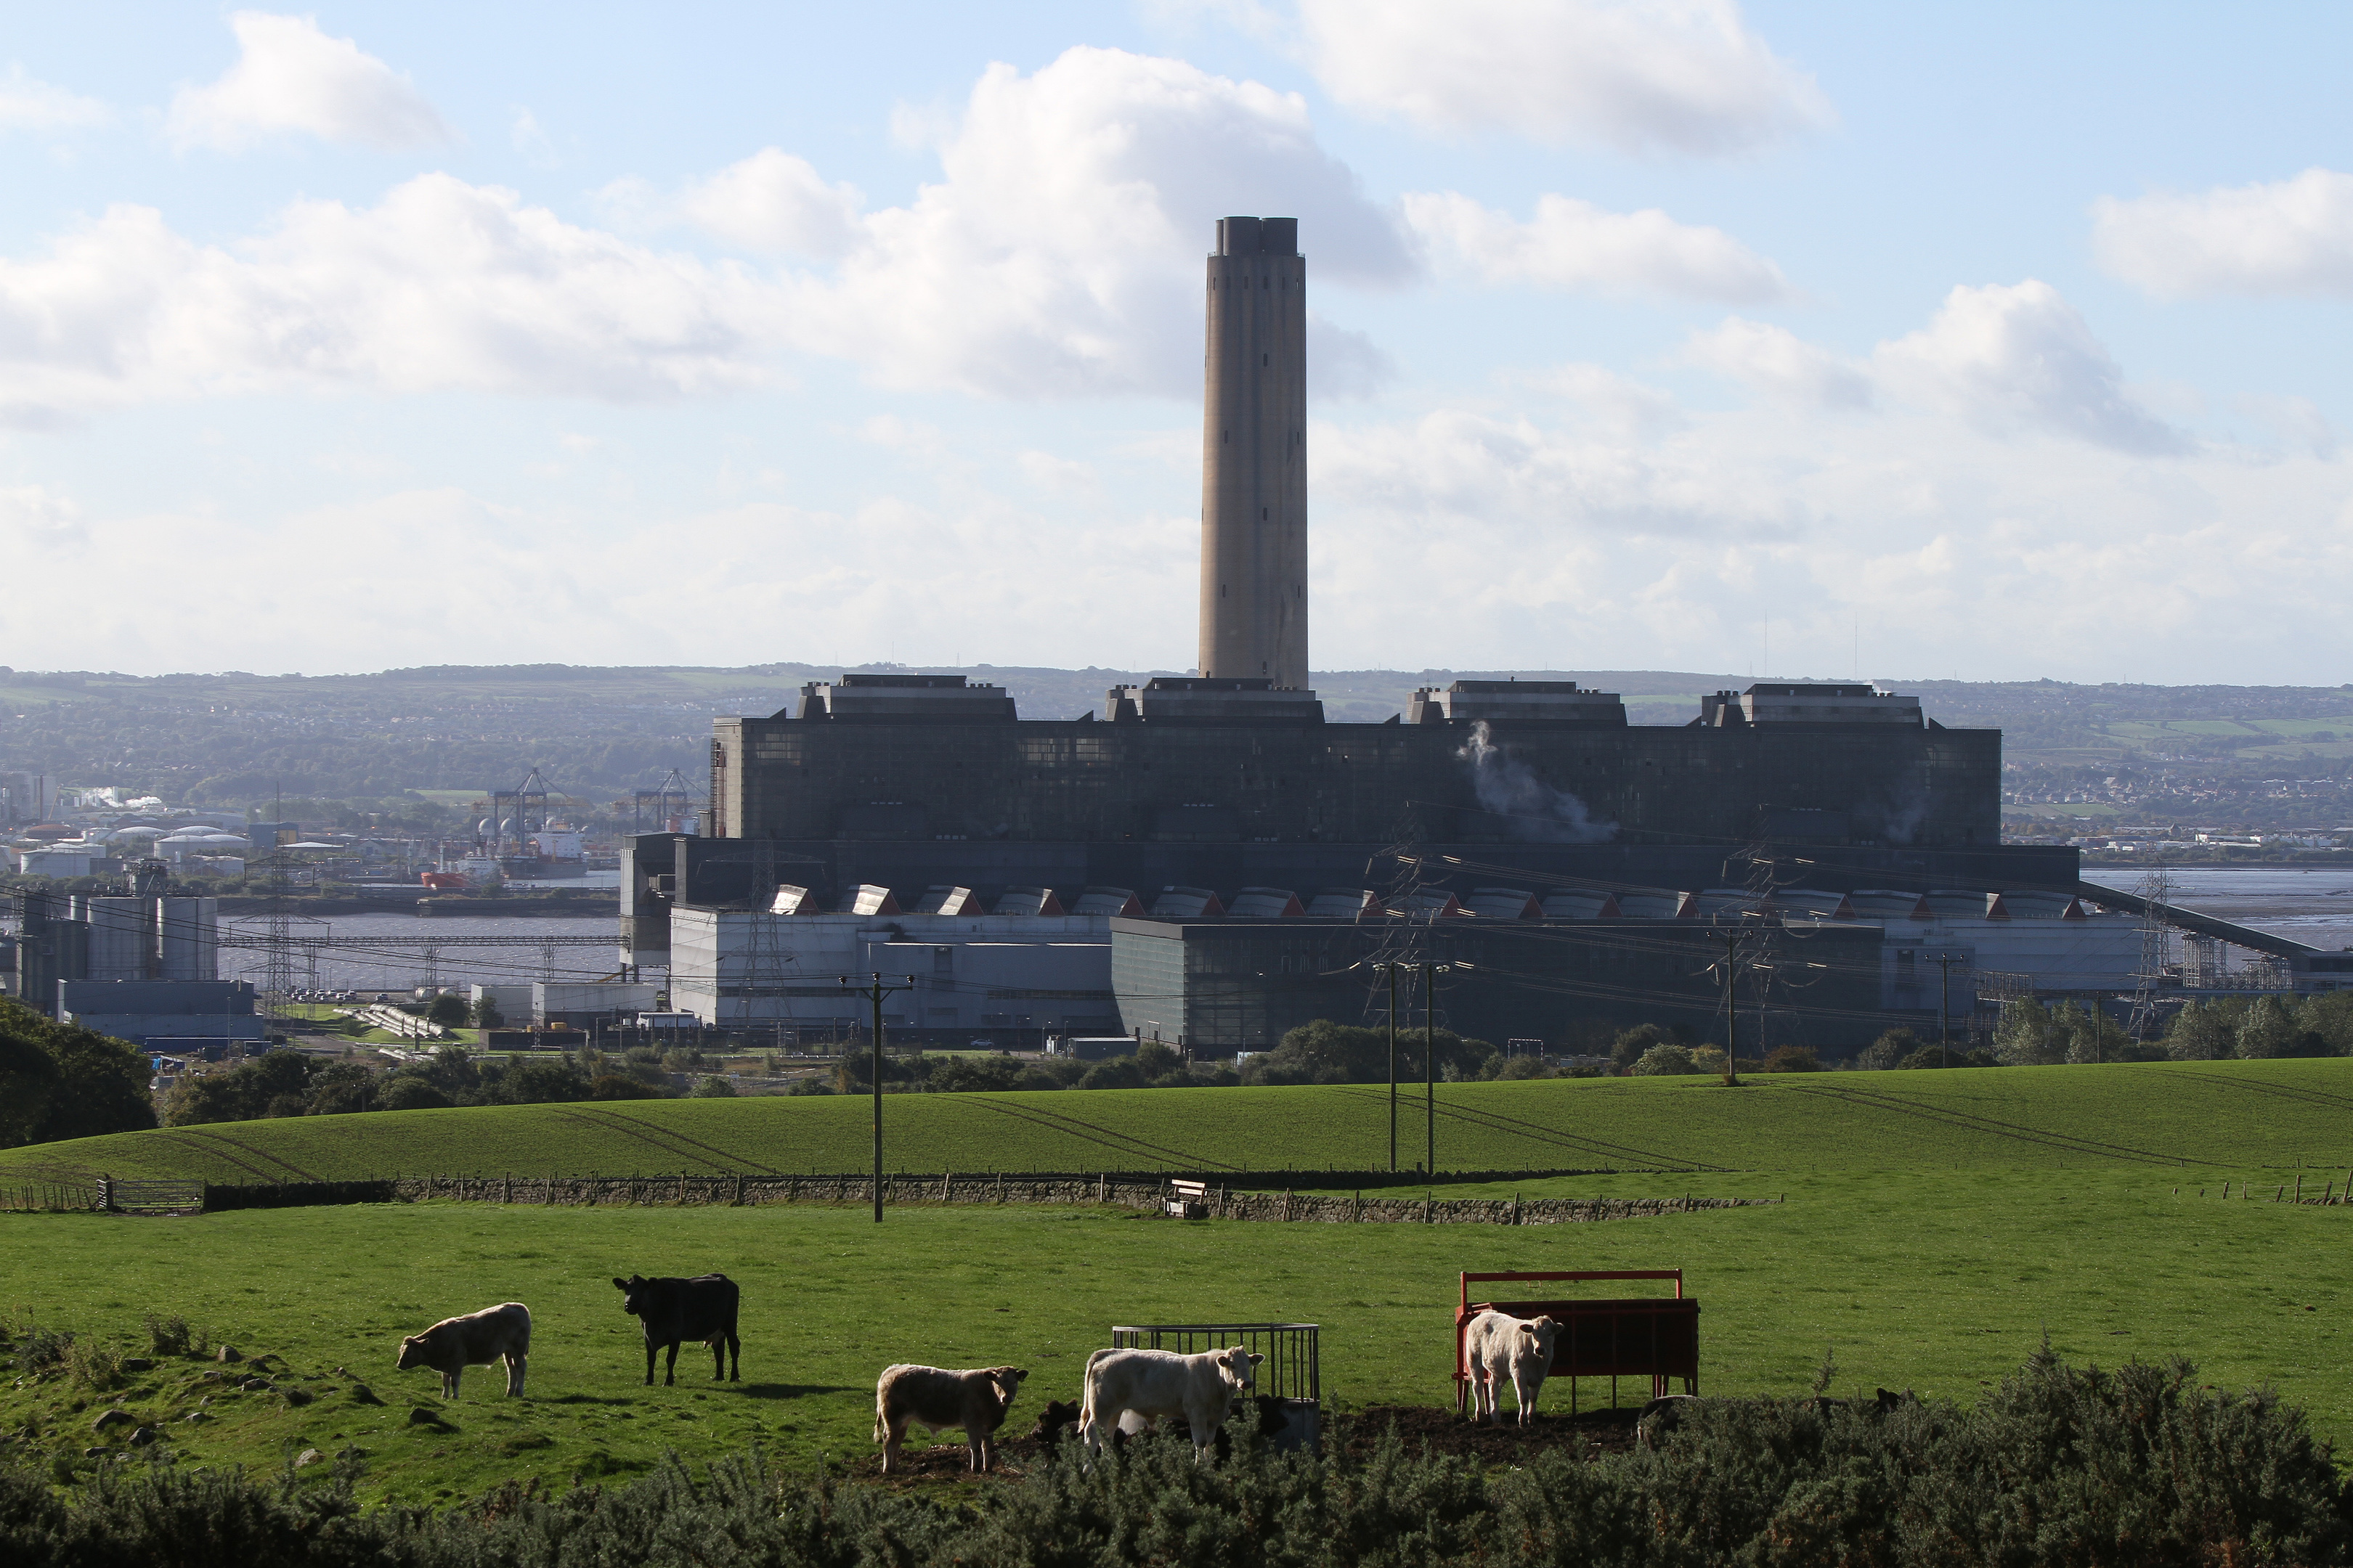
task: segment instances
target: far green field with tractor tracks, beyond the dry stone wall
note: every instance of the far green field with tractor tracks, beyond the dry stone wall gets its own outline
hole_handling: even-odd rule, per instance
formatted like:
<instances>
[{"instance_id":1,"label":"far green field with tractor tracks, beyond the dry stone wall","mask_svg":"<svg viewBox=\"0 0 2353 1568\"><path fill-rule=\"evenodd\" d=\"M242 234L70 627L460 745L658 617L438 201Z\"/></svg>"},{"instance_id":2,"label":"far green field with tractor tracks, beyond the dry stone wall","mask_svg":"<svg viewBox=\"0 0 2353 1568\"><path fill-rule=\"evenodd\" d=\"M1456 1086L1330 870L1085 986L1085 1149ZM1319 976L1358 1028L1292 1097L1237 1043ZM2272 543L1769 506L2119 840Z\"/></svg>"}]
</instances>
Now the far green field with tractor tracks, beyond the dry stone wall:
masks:
<instances>
[{"instance_id":1,"label":"far green field with tractor tracks, beyond the dry stone wall","mask_svg":"<svg viewBox=\"0 0 2353 1568\"><path fill-rule=\"evenodd\" d=\"M1438 1168L2033 1171L2353 1161L2353 1060L1955 1067L1713 1079L1442 1084ZM859 1171L861 1095L624 1100L287 1117L115 1133L0 1154L14 1175L628 1175ZM1400 1161L1421 1159L1421 1088ZM894 1171L1365 1171L1388 1159L1386 1088L1134 1088L889 1095Z\"/></svg>"}]
</instances>

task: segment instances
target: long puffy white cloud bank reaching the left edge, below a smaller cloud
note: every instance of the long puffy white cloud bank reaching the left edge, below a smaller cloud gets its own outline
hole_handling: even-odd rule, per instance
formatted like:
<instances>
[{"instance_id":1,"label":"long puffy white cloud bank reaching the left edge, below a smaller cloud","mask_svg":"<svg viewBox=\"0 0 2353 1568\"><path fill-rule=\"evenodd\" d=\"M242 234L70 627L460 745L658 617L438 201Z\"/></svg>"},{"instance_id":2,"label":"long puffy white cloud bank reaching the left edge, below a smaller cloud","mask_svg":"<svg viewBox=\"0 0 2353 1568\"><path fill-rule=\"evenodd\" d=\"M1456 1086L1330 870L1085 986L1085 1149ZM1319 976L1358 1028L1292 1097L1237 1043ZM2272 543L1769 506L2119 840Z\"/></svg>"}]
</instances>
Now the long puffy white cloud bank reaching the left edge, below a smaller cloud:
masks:
<instances>
[{"instance_id":1,"label":"long puffy white cloud bank reaching the left edge, below a smaller cloud","mask_svg":"<svg viewBox=\"0 0 2353 1568\"><path fill-rule=\"evenodd\" d=\"M666 397L762 378L784 299L426 174L376 207L296 202L235 249L111 207L0 261L0 418L353 386Z\"/></svg>"}]
</instances>

